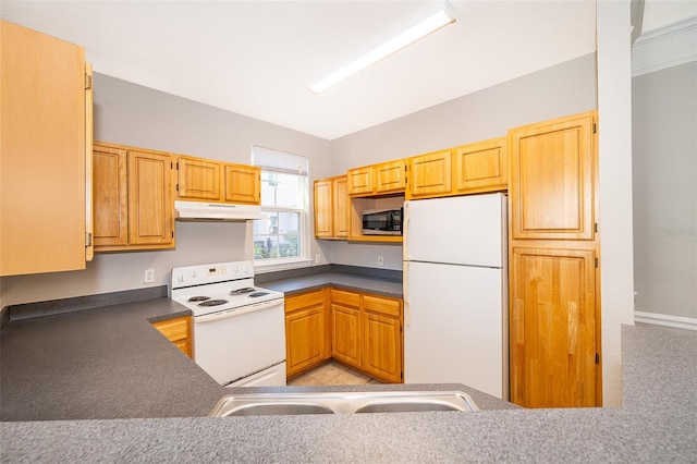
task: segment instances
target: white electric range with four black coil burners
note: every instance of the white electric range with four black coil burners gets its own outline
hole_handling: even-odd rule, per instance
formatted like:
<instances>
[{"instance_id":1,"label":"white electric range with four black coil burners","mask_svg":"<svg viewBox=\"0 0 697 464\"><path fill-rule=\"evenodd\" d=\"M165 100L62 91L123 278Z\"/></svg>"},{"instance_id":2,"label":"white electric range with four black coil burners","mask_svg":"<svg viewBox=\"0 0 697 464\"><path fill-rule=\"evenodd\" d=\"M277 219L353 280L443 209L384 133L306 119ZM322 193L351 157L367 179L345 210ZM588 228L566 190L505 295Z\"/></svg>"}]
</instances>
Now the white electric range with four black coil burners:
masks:
<instances>
[{"instance_id":1,"label":"white electric range with four black coil burners","mask_svg":"<svg viewBox=\"0 0 697 464\"><path fill-rule=\"evenodd\" d=\"M194 314L194 361L224 387L285 386L283 293L254 285L252 261L172 269Z\"/></svg>"}]
</instances>

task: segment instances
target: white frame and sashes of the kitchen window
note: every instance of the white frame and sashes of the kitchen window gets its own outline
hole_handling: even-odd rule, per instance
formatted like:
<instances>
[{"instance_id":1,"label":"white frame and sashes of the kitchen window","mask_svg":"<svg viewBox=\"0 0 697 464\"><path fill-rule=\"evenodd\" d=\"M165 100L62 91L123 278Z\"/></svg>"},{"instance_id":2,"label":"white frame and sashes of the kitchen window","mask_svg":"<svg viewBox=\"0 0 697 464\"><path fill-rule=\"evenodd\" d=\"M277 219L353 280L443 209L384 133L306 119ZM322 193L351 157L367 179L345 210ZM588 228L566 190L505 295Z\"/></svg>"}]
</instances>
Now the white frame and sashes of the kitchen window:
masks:
<instances>
[{"instance_id":1,"label":"white frame and sashes of the kitchen window","mask_svg":"<svg viewBox=\"0 0 697 464\"><path fill-rule=\"evenodd\" d=\"M290 258L277 258L277 259L264 259L257 260L254 258L254 225L252 227L252 259L254 261L255 270L271 271L277 269L288 269L305 266L311 262L310 258L310 241L309 241L309 176L308 176L308 160L307 157L299 155L293 155L285 151L279 151L270 148L253 146L252 147L252 164L261 168L262 172L278 172L285 174L295 174L301 178L303 182L303 190L305 192L304 198L302 198L302 208L284 208L284 207L268 207L261 204L261 211L278 211L278 212L296 212L299 211L299 245L301 256Z\"/></svg>"}]
</instances>

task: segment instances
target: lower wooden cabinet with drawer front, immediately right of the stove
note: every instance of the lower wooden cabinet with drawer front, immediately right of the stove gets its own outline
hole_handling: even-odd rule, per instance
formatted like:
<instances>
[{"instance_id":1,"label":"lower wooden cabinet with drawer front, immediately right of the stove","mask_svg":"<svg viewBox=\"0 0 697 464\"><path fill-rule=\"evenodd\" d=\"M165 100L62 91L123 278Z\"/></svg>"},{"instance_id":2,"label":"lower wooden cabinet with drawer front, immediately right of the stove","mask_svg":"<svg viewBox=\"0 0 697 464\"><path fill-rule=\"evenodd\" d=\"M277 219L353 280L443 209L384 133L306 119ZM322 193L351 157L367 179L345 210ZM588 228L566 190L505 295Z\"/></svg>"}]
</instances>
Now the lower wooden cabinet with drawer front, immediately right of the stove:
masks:
<instances>
[{"instance_id":1,"label":"lower wooden cabinet with drawer front, immediately right of the stove","mask_svg":"<svg viewBox=\"0 0 697 464\"><path fill-rule=\"evenodd\" d=\"M285 369L293 377L331 356L327 290L285 297Z\"/></svg>"}]
</instances>

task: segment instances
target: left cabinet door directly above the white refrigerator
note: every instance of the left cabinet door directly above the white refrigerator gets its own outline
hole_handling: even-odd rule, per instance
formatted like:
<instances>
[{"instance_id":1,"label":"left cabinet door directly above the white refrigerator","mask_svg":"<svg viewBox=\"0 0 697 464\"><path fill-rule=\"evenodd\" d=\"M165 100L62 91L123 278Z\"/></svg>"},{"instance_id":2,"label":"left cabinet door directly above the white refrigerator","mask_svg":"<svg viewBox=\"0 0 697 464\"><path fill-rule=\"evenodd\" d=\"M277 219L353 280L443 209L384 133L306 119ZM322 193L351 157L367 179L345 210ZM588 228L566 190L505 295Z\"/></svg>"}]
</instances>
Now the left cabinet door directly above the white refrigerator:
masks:
<instances>
[{"instance_id":1,"label":"left cabinet door directly above the white refrigerator","mask_svg":"<svg viewBox=\"0 0 697 464\"><path fill-rule=\"evenodd\" d=\"M452 191L452 151L438 151L408 159L408 197L428 198ZM408 199L408 198L407 198Z\"/></svg>"}]
</instances>

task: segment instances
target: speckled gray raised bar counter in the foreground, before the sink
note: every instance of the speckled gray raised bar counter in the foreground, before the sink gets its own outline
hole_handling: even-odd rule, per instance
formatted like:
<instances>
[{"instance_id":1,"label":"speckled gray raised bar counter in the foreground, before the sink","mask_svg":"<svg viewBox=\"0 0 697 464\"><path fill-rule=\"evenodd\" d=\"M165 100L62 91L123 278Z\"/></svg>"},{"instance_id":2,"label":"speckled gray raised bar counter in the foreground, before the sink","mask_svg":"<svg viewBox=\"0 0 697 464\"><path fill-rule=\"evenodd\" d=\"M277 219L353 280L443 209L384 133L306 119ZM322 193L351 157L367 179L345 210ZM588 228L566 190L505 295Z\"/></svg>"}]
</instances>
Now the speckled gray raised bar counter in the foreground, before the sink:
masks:
<instances>
[{"instance_id":1,"label":"speckled gray raised bar counter in the foreground, before the sink","mask_svg":"<svg viewBox=\"0 0 697 464\"><path fill-rule=\"evenodd\" d=\"M694 462L697 335L625 326L622 352L622 408L2 423L2 461Z\"/></svg>"}]
</instances>

